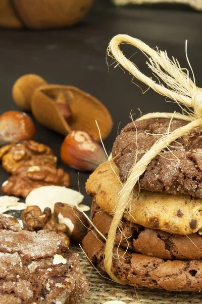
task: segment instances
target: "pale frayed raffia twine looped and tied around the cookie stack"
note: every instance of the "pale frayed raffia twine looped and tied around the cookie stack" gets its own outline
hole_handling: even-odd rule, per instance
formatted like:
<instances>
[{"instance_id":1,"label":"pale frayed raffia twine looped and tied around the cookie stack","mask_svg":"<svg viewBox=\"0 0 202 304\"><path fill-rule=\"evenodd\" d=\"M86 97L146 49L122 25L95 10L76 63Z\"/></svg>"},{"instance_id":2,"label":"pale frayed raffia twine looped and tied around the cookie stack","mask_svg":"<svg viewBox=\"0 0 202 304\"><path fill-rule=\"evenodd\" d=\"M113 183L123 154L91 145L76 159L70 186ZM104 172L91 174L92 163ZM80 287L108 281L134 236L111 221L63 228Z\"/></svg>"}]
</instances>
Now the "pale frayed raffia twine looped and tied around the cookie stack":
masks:
<instances>
[{"instance_id":1,"label":"pale frayed raffia twine looped and tied around the cookie stack","mask_svg":"<svg viewBox=\"0 0 202 304\"><path fill-rule=\"evenodd\" d=\"M145 56L148 55L148 67L153 71L154 74L157 75L158 79L162 79L168 88L161 83L156 83L154 80L141 73L135 64L127 59L120 50L120 44L123 43L127 43L138 48L144 53ZM119 34L113 37L109 44L108 55L116 59L118 64L121 64L134 77L143 82L145 85L155 90L157 93L173 99L181 106L183 111L186 112L186 115L176 112L148 113L147 115L142 116L139 120L150 118L170 118L172 120L173 118L176 118L189 122L186 126L178 128L171 133L168 131L167 135L156 141L150 150L148 150L137 163L134 163L127 181L124 183L119 194L119 199L116 204L114 217L106 242L104 267L106 272L114 281L124 284L112 272L113 247L120 220L122 219L123 213L130 202L136 182L144 173L150 161L153 160L160 153L160 151L168 147L172 141L176 140L180 136L190 133L193 129L202 126L202 89L195 86L195 80L192 82L189 77L188 70L182 69L176 59L172 58L171 60L168 58L166 51L159 51L158 49L155 51L140 40L128 35ZM187 108L187 110L185 108Z\"/></svg>"}]
</instances>

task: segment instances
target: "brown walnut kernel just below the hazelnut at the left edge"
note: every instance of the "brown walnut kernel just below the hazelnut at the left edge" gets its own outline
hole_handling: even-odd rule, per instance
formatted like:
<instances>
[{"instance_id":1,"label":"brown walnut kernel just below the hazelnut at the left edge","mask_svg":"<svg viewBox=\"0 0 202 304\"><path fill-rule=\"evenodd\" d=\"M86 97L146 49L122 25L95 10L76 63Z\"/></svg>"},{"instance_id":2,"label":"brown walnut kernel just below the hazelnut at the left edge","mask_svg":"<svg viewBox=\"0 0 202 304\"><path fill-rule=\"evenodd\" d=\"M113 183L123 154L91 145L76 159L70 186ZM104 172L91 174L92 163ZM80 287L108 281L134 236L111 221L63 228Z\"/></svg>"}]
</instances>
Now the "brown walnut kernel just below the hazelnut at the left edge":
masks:
<instances>
[{"instance_id":1,"label":"brown walnut kernel just below the hazelnut at the left edge","mask_svg":"<svg viewBox=\"0 0 202 304\"><path fill-rule=\"evenodd\" d=\"M21 166L55 166L57 162L51 148L33 140L3 146L0 148L0 158L3 168L10 173Z\"/></svg>"}]
</instances>

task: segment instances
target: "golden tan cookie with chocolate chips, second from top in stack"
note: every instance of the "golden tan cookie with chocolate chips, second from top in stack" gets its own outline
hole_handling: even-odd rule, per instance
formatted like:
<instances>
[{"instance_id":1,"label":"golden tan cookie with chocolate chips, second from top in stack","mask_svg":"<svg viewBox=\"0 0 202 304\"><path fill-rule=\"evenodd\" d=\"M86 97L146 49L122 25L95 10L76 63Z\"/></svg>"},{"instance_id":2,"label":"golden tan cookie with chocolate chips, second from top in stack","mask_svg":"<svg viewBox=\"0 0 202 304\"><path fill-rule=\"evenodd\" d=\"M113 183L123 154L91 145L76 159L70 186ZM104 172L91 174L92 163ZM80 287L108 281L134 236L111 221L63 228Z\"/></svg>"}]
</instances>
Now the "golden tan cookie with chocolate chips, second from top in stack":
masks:
<instances>
[{"instance_id":1,"label":"golden tan cookie with chocolate chips, second from top in stack","mask_svg":"<svg viewBox=\"0 0 202 304\"><path fill-rule=\"evenodd\" d=\"M86 182L88 195L95 197L97 205L113 213L122 184L119 169L112 162L100 165ZM190 196L171 196L134 189L133 196L124 212L124 218L151 229L168 233L189 235L201 233L202 200Z\"/></svg>"}]
</instances>

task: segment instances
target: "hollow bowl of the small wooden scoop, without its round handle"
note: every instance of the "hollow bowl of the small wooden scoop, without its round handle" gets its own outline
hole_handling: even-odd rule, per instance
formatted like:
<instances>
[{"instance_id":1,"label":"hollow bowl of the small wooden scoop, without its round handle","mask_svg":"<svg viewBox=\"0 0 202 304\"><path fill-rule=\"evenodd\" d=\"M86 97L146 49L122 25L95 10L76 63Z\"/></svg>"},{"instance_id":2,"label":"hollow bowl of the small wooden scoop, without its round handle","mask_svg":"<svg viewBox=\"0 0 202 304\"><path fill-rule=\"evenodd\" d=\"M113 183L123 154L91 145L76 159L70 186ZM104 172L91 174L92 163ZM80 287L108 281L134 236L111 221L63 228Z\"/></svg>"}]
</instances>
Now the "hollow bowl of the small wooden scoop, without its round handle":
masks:
<instances>
[{"instance_id":1,"label":"hollow bowl of the small wooden scoop, without its round handle","mask_svg":"<svg viewBox=\"0 0 202 304\"><path fill-rule=\"evenodd\" d=\"M57 106L57 98L61 92L63 92L65 102L72 112L69 123ZM31 108L39 123L65 136L72 130L81 130L90 133L99 141L100 137L95 120L102 139L109 135L113 126L110 112L102 102L71 86L47 85L40 87L32 96Z\"/></svg>"}]
</instances>

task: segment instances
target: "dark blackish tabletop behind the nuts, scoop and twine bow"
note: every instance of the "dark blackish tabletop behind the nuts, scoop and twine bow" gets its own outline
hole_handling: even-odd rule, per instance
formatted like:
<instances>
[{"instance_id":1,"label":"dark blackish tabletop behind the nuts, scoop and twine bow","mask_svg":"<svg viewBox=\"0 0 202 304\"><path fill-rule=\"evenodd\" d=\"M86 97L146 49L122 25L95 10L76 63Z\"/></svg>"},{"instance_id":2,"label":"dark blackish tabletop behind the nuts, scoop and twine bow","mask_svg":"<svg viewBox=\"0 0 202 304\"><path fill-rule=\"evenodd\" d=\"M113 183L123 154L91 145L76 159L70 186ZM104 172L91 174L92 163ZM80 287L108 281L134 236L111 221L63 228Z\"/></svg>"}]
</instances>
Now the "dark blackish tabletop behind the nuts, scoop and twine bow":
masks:
<instances>
[{"instance_id":1,"label":"dark blackish tabletop behind the nuts, scoop and twine bow","mask_svg":"<svg viewBox=\"0 0 202 304\"><path fill-rule=\"evenodd\" d=\"M131 75L106 63L106 50L112 37L119 33L137 37L150 47L167 50L182 67L188 67L185 57L185 40L188 56L194 70L196 85L202 87L202 18L201 13L186 6L133 6L117 8L107 0L95 1L85 20L68 29L57 30L5 30L0 29L0 89L1 112L19 109L13 102L11 90L22 74L36 73L49 83L73 85L97 97L110 110L114 128L105 141L110 153L120 129L130 122L129 114L151 111L173 111L173 103L149 90L142 95L132 84ZM127 55L137 50L127 47ZM139 51L133 57L139 69L149 75L145 58ZM143 85L142 88L146 89ZM63 137L35 122L36 141L51 146L58 156L58 166L71 175L71 187L78 190L75 170L60 161ZM9 176L1 169L0 183ZM87 173L79 173L81 193L85 194ZM91 199L86 196L85 204Z\"/></svg>"}]
</instances>

